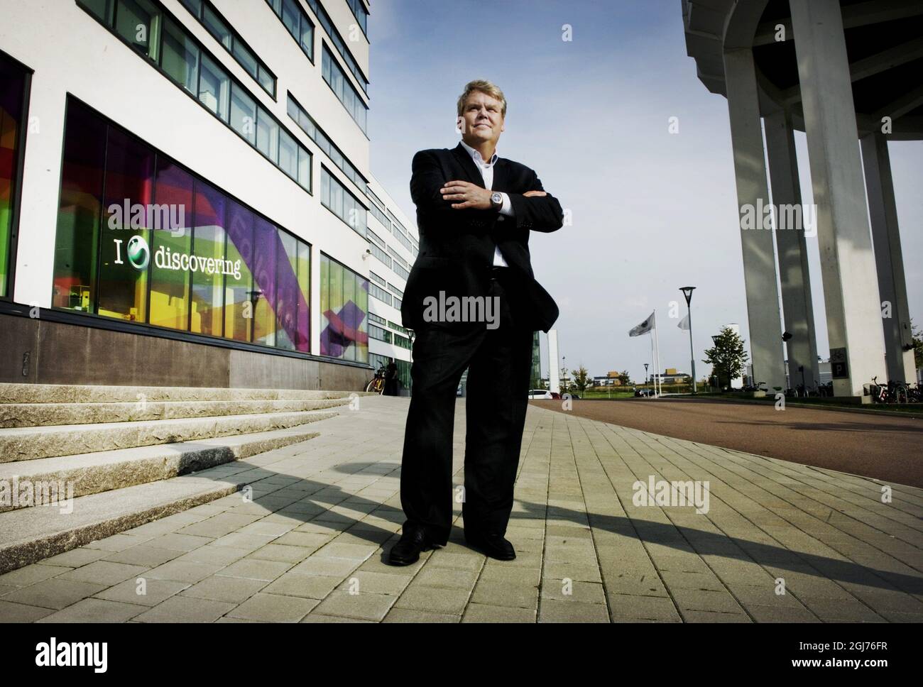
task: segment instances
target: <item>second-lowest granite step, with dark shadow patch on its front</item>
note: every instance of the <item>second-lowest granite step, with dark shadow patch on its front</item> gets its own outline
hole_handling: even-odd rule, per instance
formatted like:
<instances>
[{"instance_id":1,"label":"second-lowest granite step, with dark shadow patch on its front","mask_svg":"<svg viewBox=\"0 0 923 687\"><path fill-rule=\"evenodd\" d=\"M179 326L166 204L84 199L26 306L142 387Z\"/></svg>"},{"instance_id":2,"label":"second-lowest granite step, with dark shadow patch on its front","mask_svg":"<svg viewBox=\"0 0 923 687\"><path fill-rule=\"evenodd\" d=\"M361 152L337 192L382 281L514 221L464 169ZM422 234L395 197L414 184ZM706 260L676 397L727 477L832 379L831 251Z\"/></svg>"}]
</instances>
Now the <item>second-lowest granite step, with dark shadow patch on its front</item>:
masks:
<instances>
[{"instance_id":1,"label":"second-lowest granite step, with dark shadow patch on its front","mask_svg":"<svg viewBox=\"0 0 923 687\"><path fill-rule=\"evenodd\" d=\"M318 436L313 426L0 463L0 484L7 486L6 494L0 491L0 513L69 508L70 499L168 480L313 439Z\"/></svg>"}]
</instances>

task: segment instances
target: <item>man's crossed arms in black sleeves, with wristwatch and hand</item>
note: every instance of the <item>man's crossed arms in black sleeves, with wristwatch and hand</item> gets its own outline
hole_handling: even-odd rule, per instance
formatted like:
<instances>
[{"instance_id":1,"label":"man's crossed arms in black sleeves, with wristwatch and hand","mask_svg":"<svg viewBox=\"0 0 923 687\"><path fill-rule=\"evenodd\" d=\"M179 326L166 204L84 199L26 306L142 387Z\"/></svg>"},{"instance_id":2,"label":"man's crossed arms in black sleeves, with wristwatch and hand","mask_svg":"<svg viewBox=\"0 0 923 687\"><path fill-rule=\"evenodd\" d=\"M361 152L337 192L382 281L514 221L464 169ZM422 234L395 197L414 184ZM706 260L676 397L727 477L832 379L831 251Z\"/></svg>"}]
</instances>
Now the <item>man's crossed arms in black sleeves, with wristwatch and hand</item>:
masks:
<instances>
[{"instance_id":1,"label":"man's crossed arms in black sleeves, with wristwatch and hand","mask_svg":"<svg viewBox=\"0 0 923 687\"><path fill-rule=\"evenodd\" d=\"M497 218L490 206L491 191L470 182L446 181L438 160L426 150L414 155L410 193L416 207L436 214L462 229L464 225L486 227ZM532 190L508 193L511 217L517 229L555 231L563 225L564 213L555 196L542 187L535 172L528 184ZM504 213L507 214L507 213Z\"/></svg>"}]
</instances>

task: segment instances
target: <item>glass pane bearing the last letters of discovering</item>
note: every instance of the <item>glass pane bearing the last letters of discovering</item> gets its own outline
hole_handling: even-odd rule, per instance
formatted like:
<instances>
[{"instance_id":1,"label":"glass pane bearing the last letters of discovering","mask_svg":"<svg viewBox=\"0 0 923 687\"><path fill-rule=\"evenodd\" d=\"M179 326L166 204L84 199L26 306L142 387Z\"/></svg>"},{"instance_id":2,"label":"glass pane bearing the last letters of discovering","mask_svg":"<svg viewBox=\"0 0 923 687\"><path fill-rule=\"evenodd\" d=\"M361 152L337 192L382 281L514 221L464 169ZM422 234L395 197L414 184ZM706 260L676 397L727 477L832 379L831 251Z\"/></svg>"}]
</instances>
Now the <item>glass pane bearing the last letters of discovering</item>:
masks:
<instances>
[{"instance_id":1,"label":"glass pane bearing the last letters of discovering","mask_svg":"<svg viewBox=\"0 0 923 687\"><path fill-rule=\"evenodd\" d=\"M228 201L227 259L224 278L224 337L249 341L253 331L253 213Z\"/></svg>"}]
</instances>

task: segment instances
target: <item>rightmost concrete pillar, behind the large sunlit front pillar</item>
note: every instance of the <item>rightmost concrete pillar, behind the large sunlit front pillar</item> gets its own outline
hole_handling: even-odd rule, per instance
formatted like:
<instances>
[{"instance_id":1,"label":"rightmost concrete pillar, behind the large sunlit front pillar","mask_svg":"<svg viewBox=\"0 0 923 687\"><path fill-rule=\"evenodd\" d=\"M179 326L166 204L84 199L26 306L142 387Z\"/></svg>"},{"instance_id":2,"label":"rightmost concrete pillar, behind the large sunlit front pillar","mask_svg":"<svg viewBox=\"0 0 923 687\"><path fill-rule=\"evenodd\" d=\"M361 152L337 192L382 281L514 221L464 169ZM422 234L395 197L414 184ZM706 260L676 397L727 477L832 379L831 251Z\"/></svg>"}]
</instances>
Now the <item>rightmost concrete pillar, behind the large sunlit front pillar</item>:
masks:
<instances>
[{"instance_id":1,"label":"rightmost concrete pillar, behind the large sunlit front pillar","mask_svg":"<svg viewBox=\"0 0 923 687\"><path fill-rule=\"evenodd\" d=\"M869 194L871 238L878 266L888 379L914 384L917 382L917 364L914 361L913 336L910 331L904 256L897 228L897 204L894 201L888 140L881 132L862 138L862 163Z\"/></svg>"}]
</instances>

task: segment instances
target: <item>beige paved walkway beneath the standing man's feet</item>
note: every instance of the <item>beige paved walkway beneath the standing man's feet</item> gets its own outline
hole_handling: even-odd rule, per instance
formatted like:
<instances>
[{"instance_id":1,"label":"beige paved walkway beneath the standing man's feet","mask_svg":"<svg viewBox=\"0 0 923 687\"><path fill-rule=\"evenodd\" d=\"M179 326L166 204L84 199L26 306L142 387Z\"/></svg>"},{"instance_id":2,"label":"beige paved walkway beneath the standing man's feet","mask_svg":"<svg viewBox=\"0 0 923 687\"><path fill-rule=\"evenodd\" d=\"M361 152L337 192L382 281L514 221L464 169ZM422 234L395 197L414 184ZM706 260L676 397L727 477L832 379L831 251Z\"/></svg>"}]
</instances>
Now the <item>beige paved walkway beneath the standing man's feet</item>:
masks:
<instances>
[{"instance_id":1,"label":"beige paved walkway beneath the standing man's feet","mask_svg":"<svg viewBox=\"0 0 923 687\"><path fill-rule=\"evenodd\" d=\"M507 531L516 560L468 548L456 521L447 547L387 565L408 402L363 397L316 439L196 475L249 470L253 501L237 493L0 576L0 621L923 621L923 490L895 486L882 503L874 480L534 405ZM456 484L463 445L460 398ZM707 512L636 505L636 480L707 480Z\"/></svg>"}]
</instances>

